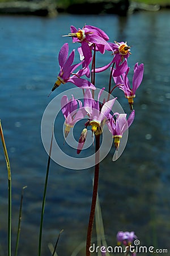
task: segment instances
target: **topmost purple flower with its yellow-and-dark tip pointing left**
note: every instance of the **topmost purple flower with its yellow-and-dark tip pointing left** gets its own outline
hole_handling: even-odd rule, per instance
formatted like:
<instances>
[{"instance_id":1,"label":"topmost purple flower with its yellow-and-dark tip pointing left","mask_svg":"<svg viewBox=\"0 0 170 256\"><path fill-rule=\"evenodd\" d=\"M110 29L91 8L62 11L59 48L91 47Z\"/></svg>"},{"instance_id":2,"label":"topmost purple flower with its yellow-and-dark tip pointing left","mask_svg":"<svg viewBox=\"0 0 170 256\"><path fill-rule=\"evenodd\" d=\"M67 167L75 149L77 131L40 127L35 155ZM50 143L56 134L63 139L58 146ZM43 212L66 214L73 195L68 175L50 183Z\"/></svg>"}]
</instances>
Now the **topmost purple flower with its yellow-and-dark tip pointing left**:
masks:
<instances>
[{"instance_id":1,"label":"topmost purple flower with its yellow-and-dark tip pointing left","mask_svg":"<svg viewBox=\"0 0 170 256\"><path fill-rule=\"evenodd\" d=\"M65 36L72 36L73 42L81 43L81 49L79 49L80 56L84 56L86 67L91 63L92 60L92 48L93 44L96 45L96 50L101 53L105 52L107 46L110 51L112 48L108 44L109 37L100 28L85 25L82 29L77 29L74 26L70 27L71 33Z\"/></svg>"}]
</instances>

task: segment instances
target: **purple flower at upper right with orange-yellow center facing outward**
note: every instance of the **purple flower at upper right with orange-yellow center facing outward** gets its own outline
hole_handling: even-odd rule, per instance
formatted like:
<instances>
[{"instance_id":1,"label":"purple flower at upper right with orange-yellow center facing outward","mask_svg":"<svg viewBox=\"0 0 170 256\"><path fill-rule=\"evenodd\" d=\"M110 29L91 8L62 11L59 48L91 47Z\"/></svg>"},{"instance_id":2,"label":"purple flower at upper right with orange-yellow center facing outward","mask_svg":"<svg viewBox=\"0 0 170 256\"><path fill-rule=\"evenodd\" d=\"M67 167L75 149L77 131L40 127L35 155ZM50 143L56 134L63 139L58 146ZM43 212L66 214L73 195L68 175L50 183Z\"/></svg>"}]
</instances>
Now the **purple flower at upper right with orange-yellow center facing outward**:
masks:
<instances>
[{"instance_id":1,"label":"purple flower at upper right with orange-yellow center facing outward","mask_svg":"<svg viewBox=\"0 0 170 256\"><path fill-rule=\"evenodd\" d=\"M113 77L120 76L123 73L125 73L128 68L127 59L130 55L130 46L128 46L126 42L109 43L109 46L112 48L112 51L114 52L113 60L104 67L96 68L95 72L99 73L105 71L111 66L112 63L115 63L116 68L114 68L114 72L112 75ZM107 51L111 51L110 47L106 46L105 49L107 49Z\"/></svg>"}]
</instances>

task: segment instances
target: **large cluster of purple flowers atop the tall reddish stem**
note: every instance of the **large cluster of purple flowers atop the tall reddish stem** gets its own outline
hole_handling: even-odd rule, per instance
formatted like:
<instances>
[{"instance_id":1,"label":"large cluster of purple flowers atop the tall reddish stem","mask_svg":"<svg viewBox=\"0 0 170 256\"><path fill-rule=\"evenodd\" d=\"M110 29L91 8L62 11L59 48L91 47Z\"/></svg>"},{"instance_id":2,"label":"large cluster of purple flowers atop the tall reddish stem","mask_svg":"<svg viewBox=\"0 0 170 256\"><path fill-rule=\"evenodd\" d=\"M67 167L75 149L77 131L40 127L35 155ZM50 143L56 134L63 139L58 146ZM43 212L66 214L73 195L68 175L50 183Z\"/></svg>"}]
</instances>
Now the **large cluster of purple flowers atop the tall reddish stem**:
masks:
<instances>
[{"instance_id":1,"label":"large cluster of purple flowers atop the tall reddish stem","mask_svg":"<svg viewBox=\"0 0 170 256\"><path fill-rule=\"evenodd\" d=\"M130 86L128 79L130 69L130 67L128 67L128 58L131 53L130 47L126 42L118 43L115 41L111 43L109 42L108 35L105 34L103 30L90 25L85 25L83 28L78 29L71 26L70 30L71 32L69 34L63 36L70 36L73 43L79 43L78 53L80 61L79 63L73 64L75 49L69 55L69 44L63 44L58 55L60 71L52 91L61 84L71 82L83 89L84 104L82 104L80 100L75 99L74 96L72 96L70 100L67 96L62 97L61 109L65 117L65 137L67 137L71 127L73 127L76 122L87 117L88 121L85 123L84 129L80 134L77 153L80 153L86 142L87 127L91 127L92 133L98 135L102 133L105 124L113 135L114 145L116 149L118 149L122 135L134 120L135 111L133 110L133 99L143 79L143 64L135 64L132 86ZM111 61L104 67L96 68L96 52L104 54L105 51L112 53ZM104 72L108 68L111 69L108 93L111 94L115 88L120 88L124 92L131 110L128 119L126 118L127 114L112 113L112 106L116 98L110 100L108 97L107 100L104 99L103 102L99 101L105 88L100 90L98 99L94 99L96 73ZM114 82L113 85L112 82Z\"/></svg>"}]
</instances>

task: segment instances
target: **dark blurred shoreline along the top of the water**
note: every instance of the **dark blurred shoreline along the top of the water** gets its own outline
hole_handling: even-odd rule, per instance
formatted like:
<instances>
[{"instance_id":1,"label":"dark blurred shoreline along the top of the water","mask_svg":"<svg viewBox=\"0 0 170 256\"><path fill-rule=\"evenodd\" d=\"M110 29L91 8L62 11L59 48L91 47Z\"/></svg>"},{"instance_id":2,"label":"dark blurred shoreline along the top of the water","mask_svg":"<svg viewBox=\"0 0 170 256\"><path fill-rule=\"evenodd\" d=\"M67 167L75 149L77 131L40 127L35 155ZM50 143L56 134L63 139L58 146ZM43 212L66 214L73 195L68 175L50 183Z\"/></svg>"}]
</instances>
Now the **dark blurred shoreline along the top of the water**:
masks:
<instances>
[{"instance_id":1,"label":"dark blurred shoreline along the top of the water","mask_svg":"<svg viewBox=\"0 0 170 256\"><path fill-rule=\"evenodd\" d=\"M135 11L158 11L160 9L169 9L169 5L145 5L144 3L137 3L129 0L120 1L100 1L87 0L84 3L74 3L69 7L58 7L54 3L46 1L42 2L2 2L0 3L1 14L16 14L16 15L37 15L37 16L57 16L58 13L70 14L117 14L126 16L128 13Z\"/></svg>"}]
</instances>

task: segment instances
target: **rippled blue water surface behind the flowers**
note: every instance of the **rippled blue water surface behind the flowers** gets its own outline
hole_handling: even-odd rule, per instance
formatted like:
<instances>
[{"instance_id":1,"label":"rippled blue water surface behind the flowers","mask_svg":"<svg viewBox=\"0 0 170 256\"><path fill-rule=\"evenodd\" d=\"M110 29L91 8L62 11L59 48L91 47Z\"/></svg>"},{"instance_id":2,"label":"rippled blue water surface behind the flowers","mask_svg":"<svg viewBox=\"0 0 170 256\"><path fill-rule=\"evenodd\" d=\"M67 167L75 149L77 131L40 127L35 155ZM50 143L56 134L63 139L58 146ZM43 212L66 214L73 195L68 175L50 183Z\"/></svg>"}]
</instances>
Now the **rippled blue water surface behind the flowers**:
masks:
<instances>
[{"instance_id":1,"label":"rippled blue water surface behind the flowers","mask_svg":"<svg viewBox=\"0 0 170 256\"><path fill-rule=\"evenodd\" d=\"M112 150L100 164L99 196L108 245L115 245L118 230L134 230L142 245L170 250L169 17L169 11L137 13L127 18L116 15L58 15L54 19L0 16L0 118L12 171L12 248L20 192L27 185L18 255L37 255L48 160L41 142L40 125L46 106L64 89L61 86L47 97L59 72L58 51L67 40L62 35L70 31L71 24L81 28L85 23L103 29L112 42L127 41L132 46L130 67L137 61L145 64L145 76L135 98L135 122L130 127L125 151L117 162L112 162ZM71 51L74 44L71 39L69 42ZM97 59L99 65L103 64L101 57ZM107 59L105 61L107 63ZM107 83L108 73L97 80L97 87ZM70 86L66 85L65 89ZM125 111L129 111L118 89L117 95ZM1 254L6 255L7 172L2 146L0 149L0 245ZM64 232L58 245L60 256L71 255L86 240L91 191L92 168L73 171L51 163L42 255L50 255L48 243L56 242L61 229ZM78 255L84 255L83 250Z\"/></svg>"}]
</instances>

